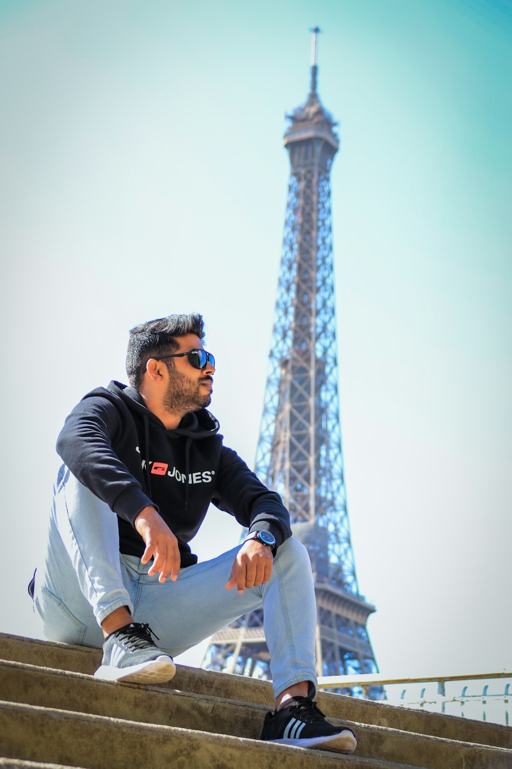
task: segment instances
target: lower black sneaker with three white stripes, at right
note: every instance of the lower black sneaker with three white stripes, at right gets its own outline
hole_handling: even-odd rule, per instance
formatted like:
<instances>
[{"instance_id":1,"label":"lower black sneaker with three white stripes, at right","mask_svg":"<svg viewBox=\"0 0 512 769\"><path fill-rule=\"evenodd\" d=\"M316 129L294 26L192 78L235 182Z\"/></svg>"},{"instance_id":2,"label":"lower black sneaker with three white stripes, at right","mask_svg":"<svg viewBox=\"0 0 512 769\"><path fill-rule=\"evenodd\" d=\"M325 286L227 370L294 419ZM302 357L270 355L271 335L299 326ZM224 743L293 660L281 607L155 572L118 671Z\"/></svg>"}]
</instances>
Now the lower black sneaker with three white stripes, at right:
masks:
<instances>
[{"instance_id":1,"label":"lower black sneaker with three white stripes, at right","mask_svg":"<svg viewBox=\"0 0 512 769\"><path fill-rule=\"evenodd\" d=\"M260 740L296 747L324 748L326 751L353 753L357 741L350 729L325 721L325 716L309 697L293 697L282 711L267 713Z\"/></svg>"}]
</instances>

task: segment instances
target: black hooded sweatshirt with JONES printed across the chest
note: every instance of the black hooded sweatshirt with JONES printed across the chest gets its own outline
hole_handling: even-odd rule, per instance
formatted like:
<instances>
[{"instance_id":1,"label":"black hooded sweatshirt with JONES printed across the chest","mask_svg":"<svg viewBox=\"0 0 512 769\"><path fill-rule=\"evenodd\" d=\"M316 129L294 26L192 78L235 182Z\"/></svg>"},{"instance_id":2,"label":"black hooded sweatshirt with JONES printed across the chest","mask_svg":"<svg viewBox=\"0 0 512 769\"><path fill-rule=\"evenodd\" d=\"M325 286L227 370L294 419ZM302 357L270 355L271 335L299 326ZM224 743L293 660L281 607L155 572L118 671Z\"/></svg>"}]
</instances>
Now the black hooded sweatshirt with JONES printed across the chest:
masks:
<instances>
[{"instance_id":1,"label":"black hooded sweatshirt with JONES printed across the chest","mask_svg":"<svg viewBox=\"0 0 512 769\"><path fill-rule=\"evenodd\" d=\"M74 476L117 514L122 553L143 554L134 520L148 504L177 537L183 567L197 563L187 543L210 502L250 531L271 531L279 547L292 534L288 511L279 494L223 446L218 430L206 408L167 430L137 390L112 381L71 411L57 451Z\"/></svg>"}]
</instances>

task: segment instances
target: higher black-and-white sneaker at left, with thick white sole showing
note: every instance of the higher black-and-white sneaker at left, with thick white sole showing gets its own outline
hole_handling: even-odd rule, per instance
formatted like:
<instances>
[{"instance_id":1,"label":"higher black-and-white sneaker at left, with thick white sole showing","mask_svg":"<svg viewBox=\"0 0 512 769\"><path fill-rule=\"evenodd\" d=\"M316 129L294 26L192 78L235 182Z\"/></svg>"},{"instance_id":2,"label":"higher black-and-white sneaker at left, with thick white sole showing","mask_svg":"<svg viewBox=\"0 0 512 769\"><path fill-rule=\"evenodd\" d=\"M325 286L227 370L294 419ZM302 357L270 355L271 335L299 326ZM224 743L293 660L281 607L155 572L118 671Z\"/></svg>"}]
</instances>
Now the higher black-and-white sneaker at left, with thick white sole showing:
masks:
<instances>
[{"instance_id":1,"label":"higher black-and-white sneaker at left, with thick white sole showing","mask_svg":"<svg viewBox=\"0 0 512 769\"><path fill-rule=\"evenodd\" d=\"M170 681L176 673L173 658L155 646L151 633L153 631L149 625L131 622L107 635L101 666L97 668L94 677L103 678L104 681L131 681L135 684Z\"/></svg>"}]
</instances>

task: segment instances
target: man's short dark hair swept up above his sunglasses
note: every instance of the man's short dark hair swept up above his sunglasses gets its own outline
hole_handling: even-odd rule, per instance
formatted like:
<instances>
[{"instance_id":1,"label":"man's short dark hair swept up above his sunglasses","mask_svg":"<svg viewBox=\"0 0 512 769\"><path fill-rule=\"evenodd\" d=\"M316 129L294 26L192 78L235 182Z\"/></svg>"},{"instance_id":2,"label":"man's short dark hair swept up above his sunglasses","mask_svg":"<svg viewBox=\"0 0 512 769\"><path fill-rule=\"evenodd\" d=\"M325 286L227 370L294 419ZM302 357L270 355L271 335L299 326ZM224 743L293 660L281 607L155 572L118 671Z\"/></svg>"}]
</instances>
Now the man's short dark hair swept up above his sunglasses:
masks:
<instances>
[{"instance_id":1,"label":"man's short dark hair swept up above his sunglasses","mask_svg":"<svg viewBox=\"0 0 512 769\"><path fill-rule=\"evenodd\" d=\"M159 358L160 355L170 355L178 349L176 337L194 334L204 339L203 317L197 312L185 315L167 315L167 318L157 318L156 321L140 323L130 330L126 354L126 373L131 387L140 387L147 361ZM164 361L172 364L173 358Z\"/></svg>"}]
</instances>

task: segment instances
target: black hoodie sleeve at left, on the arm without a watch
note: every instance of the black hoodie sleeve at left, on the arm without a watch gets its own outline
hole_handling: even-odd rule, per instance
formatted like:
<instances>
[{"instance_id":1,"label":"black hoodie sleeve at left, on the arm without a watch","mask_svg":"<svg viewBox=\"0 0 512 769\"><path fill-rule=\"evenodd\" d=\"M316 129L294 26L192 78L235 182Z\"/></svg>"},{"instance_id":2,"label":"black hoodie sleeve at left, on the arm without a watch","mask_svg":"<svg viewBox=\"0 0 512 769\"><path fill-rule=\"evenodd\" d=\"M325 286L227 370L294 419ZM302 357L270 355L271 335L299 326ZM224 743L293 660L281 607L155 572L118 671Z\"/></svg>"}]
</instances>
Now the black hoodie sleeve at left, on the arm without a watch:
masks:
<instances>
[{"instance_id":1,"label":"black hoodie sleeve at left, on the arm without a watch","mask_svg":"<svg viewBox=\"0 0 512 769\"><path fill-rule=\"evenodd\" d=\"M81 484L133 525L140 511L154 503L112 448L121 430L121 414L114 404L106 398L84 398L64 422L57 453Z\"/></svg>"}]
</instances>

